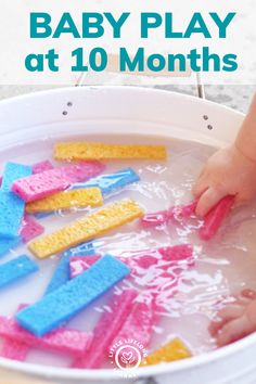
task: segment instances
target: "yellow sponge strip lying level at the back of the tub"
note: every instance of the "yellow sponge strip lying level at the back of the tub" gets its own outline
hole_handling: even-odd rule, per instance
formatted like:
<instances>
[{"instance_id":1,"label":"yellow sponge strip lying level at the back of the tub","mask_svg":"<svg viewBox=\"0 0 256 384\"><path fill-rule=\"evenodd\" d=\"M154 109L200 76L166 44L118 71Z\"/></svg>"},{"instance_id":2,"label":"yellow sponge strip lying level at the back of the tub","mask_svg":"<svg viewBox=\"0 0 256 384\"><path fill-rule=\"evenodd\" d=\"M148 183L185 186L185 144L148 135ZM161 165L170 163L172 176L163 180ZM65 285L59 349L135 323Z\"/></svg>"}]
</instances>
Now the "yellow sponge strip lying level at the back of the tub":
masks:
<instances>
[{"instance_id":1,"label":"yellow sponge strip lying level at the back of the tub","mask_svg":"<svg viewBox=\"0 0 256 384\"><path fill-rule=\"evenodd\" d=\"M54 146L57 161L74 159L165 159L167 152L163 145L126 145L92 142L63 142Z\"/></svg>"}]
</instances>

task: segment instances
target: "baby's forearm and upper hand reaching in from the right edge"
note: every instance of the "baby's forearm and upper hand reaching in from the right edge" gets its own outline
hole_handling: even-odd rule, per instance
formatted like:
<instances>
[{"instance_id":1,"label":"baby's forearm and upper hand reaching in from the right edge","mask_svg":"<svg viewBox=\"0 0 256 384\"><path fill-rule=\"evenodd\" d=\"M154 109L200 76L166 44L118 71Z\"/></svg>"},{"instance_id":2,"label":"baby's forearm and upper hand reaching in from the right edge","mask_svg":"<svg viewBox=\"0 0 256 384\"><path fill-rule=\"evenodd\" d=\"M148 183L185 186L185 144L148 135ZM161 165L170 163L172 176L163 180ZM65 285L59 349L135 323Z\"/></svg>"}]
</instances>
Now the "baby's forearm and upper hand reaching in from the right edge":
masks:
<instances>
[{"instance_id":1,"label":"baby's forearm and upper hand reaching in from the right edge","mask_svg":"<svg viewBox=\"0 0 256 384\"><path fill-rule=\"evenodd\" d=\"M256 94L234 143L208 159L193 192L199 216L228 194L235 195L235 204L256 196Z\"/></svg>"}]
</instances>

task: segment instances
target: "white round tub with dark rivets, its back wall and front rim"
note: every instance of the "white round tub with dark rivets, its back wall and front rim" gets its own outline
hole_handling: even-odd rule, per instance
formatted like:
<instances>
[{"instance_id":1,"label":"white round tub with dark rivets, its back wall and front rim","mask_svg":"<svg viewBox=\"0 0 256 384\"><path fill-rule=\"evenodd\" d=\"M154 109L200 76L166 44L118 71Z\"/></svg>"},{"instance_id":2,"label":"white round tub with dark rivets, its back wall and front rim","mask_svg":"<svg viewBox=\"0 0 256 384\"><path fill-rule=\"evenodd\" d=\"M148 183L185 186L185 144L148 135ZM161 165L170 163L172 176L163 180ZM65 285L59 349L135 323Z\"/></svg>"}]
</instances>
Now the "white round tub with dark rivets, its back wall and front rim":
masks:
<instances>
[{"instance_id":1,"label":"white round tub with dark rivets, its back wall and front rim","mask_svg":"<svg viewBox=\"0 0 256 384\"><path fill-rule=\"evenodd\" d=\"M49 133L71 135L71 129L184 138L217 146L233 139L242 119L242 114L221 105L152 89L60 89L0 103L0 150ZM255 356L256 334L207 355L142 368L137 379L121 379L114 370L55 369L0 359L0 383L121 384L154 377L159 384L255 384Z\"/></svg>"}]
</instances>

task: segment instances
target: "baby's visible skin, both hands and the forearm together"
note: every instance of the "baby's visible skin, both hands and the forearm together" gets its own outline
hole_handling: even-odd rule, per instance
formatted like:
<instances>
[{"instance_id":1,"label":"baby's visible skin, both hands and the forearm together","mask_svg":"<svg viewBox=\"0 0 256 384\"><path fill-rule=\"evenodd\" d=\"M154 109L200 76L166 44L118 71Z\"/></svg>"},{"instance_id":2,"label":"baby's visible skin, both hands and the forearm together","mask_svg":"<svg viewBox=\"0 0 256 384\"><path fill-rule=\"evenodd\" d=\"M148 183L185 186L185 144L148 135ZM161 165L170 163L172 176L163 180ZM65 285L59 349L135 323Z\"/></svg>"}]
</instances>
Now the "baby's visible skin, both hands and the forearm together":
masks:
<instances>
[{"instance_id":1,"label":"baby's visible skin, both hands and the forearm together","mask_svg":"<svg viewBox=\"0 0 256 384\"><path fill-rule=\"evenodd\" d=\"M193 193L200 217L226 195L233 195L236 206L256 197L256 94L234 143L208 159ZM222 308L209 332L219 346L256 332L256 292L245 290Z\"/></svg>"}]
</instances>

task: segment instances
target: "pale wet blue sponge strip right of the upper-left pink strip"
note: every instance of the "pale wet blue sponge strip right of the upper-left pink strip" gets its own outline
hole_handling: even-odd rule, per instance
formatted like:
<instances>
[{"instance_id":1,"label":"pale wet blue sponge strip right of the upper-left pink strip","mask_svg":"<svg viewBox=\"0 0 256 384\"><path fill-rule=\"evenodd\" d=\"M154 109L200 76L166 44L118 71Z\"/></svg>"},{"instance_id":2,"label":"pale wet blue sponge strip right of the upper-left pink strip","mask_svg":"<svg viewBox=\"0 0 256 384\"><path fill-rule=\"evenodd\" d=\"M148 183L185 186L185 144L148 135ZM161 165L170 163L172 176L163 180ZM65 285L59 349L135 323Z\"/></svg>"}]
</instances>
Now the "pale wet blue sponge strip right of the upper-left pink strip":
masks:
<instances>
[{"instance_id":1,"label":"pale wet blue sponge strip right of the upper-left pink strip","mask_svg":"<svg viewBox=\"0 0 256 384\"><path fill-rule=\"evenodd\" d=\"M102 194L106 195L137 181L140 181L139 175L132 168L126 168L112 175L99 176L84 183L76 183L72 189L98 187Z\"/></svg>"}]
</instances>

